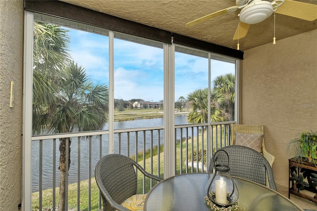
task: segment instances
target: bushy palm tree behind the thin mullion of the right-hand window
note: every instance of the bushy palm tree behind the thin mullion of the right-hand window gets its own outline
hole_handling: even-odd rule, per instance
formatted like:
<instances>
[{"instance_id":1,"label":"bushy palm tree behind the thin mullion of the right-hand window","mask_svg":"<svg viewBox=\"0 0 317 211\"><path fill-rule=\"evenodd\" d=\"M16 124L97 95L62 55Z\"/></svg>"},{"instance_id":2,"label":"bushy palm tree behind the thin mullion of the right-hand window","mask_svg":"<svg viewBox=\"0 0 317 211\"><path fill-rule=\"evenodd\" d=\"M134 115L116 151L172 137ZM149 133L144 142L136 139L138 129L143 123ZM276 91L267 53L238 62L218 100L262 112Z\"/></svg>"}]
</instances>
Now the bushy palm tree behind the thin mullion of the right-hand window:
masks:
<instances>
[{"instance_id":1,"label":"bushy palm tree behind the thin mullion of the right-hand window","mask_svg":"<svg viewBox=\"0 0 317 211\"><path fill-rule=\"evenodd\" d=\"M208 122L208 109L211 109L211 121L220 122L223 121L221 116L222 111L219 105L222 104L222 99L211 92L211 105L208 104L208 88L198 89L190 93L187 97L187 101L192 107L192 111L187 115L187 121L189 123L205 123Z\"/></svg>"}]
</instances>

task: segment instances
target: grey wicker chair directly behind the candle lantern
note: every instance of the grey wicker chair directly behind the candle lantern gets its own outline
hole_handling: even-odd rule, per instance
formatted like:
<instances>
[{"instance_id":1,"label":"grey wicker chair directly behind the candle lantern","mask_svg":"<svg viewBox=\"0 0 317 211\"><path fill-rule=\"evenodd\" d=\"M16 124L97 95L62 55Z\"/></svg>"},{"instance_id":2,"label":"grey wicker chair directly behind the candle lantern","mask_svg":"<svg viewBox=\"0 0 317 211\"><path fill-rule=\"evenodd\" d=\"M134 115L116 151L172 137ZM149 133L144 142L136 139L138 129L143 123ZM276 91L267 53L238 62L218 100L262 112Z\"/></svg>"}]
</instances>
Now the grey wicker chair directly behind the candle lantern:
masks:
<instances>
[{"instance_id":1,"label":"grey wicker chair directly behind the candle lantern","mask_svg":"<svg viewBox=\"0 0 317 211\"><path fill-rule=\"evenodd\" d=\"M240 145L230 145L221 148L229 155L229 173L231 176L247 179L276 191L272 168L268 161L257 151ZM213 171L214 164L226 164L227 155L218 153L208 172ZM268 183L268 184L267 184Z\"/></svg>"}]
</instances>

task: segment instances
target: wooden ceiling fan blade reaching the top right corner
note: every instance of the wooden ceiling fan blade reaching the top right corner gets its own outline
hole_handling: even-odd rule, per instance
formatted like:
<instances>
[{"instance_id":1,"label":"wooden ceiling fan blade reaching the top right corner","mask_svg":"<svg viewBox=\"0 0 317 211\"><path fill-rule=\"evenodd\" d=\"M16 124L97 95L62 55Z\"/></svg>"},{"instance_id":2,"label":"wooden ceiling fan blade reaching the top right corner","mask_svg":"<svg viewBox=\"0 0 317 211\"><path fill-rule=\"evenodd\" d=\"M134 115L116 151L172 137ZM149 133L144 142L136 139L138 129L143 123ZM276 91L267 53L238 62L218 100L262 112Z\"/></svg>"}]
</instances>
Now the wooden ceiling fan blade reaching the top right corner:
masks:
<instances>
[{"instance_id":1,"label":"wooden ceiling fan blade reaching the top right corner","mask_svg":"<svg viewBox=\"0 0 317 211\"><path fill-rule=\"evenodd\" d=\"M295 0L285 0L277 8L276 13L313 21L317 19L317 5Z\"/></svg>"}]
</instances>

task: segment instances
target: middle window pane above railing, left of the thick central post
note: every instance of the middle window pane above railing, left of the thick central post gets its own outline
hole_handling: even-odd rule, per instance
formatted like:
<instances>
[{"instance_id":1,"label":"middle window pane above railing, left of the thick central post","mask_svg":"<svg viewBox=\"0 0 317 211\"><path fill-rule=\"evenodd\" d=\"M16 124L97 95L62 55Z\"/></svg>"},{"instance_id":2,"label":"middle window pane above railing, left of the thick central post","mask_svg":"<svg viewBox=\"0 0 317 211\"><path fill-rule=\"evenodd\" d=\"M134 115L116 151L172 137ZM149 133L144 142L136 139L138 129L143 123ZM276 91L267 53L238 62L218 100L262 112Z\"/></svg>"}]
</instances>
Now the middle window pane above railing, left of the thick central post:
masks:
<instances>
[{"instance_id":1,"label":"middle window pane above railing, left of the thick central post","mask_svg":"<svg viewBox=\"0 0 317 211\"><path fill-rule=\"evenodd\" d=\"M163 46L138 41L114 39L114 129L163 126Z\"/></svg>"}]
</instances>

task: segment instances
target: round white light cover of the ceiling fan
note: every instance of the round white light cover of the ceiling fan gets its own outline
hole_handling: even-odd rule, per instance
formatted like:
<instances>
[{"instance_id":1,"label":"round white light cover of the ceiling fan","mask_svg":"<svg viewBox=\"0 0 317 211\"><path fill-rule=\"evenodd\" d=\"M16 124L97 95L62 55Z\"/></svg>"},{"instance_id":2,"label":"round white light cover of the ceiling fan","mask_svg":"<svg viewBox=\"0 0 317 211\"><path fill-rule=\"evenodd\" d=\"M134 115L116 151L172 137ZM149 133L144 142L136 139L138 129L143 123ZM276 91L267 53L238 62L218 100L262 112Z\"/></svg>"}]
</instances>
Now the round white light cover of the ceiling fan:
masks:
<instances>
[{"instance_id":1,"label":"round white light cover of the ceiling fan","mask_svg":"<svg viewBox=\"0 0 317 211\"><path fill-rule=\"evenodd\" d=\"M245 6L240 12L240 21L256 24L264 21L273 13L273 6L268 1L257 1Z\"/></svg>"}]
</instances>

